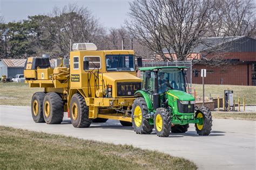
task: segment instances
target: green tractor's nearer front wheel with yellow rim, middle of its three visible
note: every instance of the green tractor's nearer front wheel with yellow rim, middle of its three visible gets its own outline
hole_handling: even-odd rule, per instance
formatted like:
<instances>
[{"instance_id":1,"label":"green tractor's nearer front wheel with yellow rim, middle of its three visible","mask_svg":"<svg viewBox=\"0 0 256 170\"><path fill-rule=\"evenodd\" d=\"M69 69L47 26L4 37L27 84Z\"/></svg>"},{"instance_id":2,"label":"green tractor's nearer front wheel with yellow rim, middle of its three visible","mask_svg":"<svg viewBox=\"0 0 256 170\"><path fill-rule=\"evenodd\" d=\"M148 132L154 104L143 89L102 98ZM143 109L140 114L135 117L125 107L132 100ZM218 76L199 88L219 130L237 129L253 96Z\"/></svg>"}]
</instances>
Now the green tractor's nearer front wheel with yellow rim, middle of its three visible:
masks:
<instances>
[{"instance_id":1,"label":"green tractor's nearer front wheel with yellow rim, middle of its three visible","mask_svg":"<svg viewBox=\"0 0 256 170\"><path fill-rule=\"evenodd\" d=\"M166 108L157 108L154 114L154 129L157 136L169 137L171 132L171 115Z\"/></svg>"}]
</instances>

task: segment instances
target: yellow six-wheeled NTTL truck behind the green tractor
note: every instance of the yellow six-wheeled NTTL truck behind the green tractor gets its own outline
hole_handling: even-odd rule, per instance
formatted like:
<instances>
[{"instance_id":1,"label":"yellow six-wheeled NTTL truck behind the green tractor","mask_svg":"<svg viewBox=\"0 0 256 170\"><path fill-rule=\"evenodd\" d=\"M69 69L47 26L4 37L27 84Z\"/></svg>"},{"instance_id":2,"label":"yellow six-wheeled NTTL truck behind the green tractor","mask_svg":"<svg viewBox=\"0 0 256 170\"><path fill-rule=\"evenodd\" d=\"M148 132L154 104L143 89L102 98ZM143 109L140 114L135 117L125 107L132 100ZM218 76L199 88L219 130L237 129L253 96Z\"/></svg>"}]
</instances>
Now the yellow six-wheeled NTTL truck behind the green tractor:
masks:
<instances>
[{"instance_id":1,"label":"yellow six-wheeled NTTL truck behind the green tractor","mask_svg":"<svg viewBox=\"0 0 256 170\"><path fill-rule=\"evenodd\" d=\"M92 43L73 44L69 59L29 57L25 82L44 91L33 94L33 121L59 124L68 112L75 128L88 128L91 122L119 120L132 125L134 93L142 80L136 76L134 51L97 51ZM138 60L141 65L141 60Z\"/></svg>"}]
</instances>

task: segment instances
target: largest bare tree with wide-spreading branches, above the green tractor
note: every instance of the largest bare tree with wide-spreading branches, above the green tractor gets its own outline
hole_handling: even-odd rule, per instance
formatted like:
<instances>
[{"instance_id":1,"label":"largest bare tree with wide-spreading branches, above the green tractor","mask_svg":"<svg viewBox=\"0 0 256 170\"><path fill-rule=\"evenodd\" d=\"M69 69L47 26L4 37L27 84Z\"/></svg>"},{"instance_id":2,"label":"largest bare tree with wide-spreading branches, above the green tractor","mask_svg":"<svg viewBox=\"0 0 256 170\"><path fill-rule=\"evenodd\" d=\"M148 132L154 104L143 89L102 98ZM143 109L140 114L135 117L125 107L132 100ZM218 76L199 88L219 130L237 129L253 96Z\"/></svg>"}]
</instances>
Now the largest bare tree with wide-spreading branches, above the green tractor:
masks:
<instances>
[{"instance_id":1,"label":"largest bare tree with wide-spreading branches, above the green tractor","mask_svg":"<svg viewBox=\"0 0 256 170\"><path fill-rule=\"evenodd\" d=\"M214 6L211 0L137 0L130 3L126 25L134 38L164 60L174 60L172 53L185 60L219 22Z\"/></svg>"}]
</instances>

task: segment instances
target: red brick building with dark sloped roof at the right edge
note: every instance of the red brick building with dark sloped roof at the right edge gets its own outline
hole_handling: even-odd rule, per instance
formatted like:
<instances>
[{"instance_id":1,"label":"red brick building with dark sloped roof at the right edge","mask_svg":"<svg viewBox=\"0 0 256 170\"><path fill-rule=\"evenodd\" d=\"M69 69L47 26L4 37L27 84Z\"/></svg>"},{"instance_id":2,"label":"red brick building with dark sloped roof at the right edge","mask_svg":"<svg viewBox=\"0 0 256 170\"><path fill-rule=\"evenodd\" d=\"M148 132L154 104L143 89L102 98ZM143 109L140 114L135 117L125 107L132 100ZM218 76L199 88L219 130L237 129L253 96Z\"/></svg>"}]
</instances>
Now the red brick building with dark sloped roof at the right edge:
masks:
<instances>
[{"instance_id":1,"label":"red brick building with dark sloped roof at the right edge","mask_svg":"<svg viewBox=\"0 0 256 170\"><path fill-rule=\"evenodd\" d=\"M192 69L199 71L192 83L201 84L200 70L206 69L205 84L230 84L256 86L256 40L246 36L203 38L204 43L194 48L187 60L192 60ZM208 52L212 54L205 55ZM165 56L169 57L166 49ZM176 54L171 53L176 59ZM201 58L208 61L200 63ZM212 60L211 60L212 59ZM223 61L228 65L212 65L211 62Z\"/></svg>"}]
</instances>

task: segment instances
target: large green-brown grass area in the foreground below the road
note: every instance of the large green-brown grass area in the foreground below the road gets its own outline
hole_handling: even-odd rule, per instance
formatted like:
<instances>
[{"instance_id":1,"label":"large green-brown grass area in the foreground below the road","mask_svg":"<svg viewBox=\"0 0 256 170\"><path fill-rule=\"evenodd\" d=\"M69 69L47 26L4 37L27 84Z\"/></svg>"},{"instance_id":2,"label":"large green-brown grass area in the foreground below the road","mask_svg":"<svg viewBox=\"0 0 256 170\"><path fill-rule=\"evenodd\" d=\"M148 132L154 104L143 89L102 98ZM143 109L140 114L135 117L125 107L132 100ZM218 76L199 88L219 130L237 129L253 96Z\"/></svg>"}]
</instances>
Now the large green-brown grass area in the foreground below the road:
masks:
<instances>
[{"instance_id":1,"label":"large green-brown grass area in the foreground below the road","mask_svg":"<svg viewBox=\"0 0 256 170\"><path fill-rule=\"evenodd\" d=\"M169 154L0 126L1 169L196 169Z\"/></svg>"}]
</instances>

